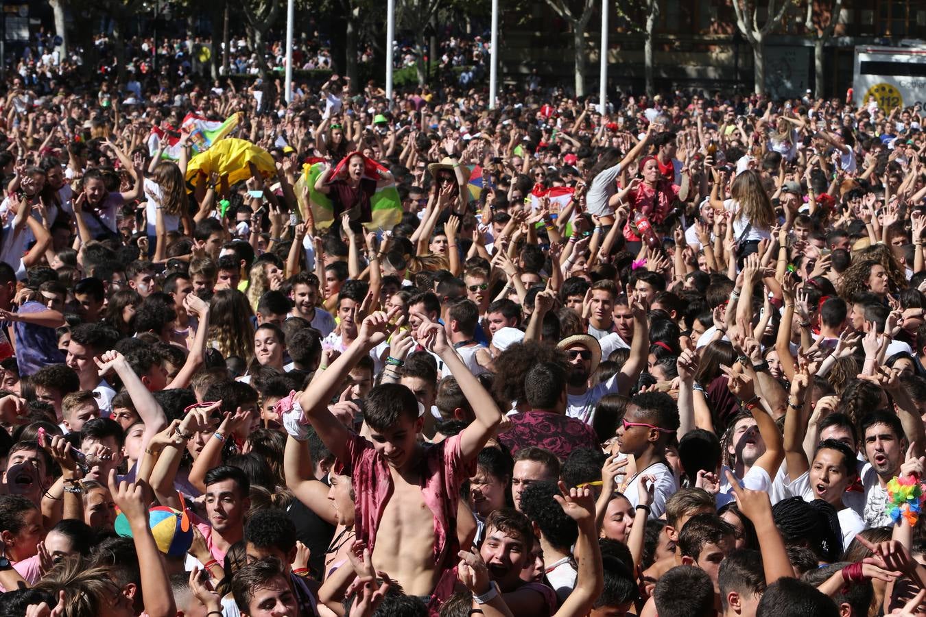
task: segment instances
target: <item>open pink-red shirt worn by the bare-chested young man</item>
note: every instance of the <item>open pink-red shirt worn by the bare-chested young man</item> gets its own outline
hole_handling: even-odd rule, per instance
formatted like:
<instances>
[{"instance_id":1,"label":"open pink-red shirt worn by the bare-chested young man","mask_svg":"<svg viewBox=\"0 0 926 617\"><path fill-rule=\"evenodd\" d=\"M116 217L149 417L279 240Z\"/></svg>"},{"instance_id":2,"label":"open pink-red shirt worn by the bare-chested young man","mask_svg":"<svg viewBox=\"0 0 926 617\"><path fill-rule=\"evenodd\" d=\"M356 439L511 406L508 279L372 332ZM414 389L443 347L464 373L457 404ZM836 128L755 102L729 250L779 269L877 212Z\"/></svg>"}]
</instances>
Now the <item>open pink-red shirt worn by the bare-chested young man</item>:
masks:
<instances>
[{"instance_id":1,"label":"open pink-red shirt worn by the bare-chested young man","mask_svg":"<svg viewBox=\"0 0 926 617\"><path fill-rule=\"evenodd\" d=\"M366 542L372 553L382 513L392 496L393 479L385 457L367 439L352 434L346 446L350 461L342 463L345 474L353 479L357 494L354 529L357 540ZM463 461L460 436L455 435L440 443L425 445L419 464L424 482L421 497L434 515L434 565L443 570L428 606L431 614L437 614L441 603L453 595L457 580L459 489L464 480L476 474L476 461Z\"/></svg>"}]
</instances>

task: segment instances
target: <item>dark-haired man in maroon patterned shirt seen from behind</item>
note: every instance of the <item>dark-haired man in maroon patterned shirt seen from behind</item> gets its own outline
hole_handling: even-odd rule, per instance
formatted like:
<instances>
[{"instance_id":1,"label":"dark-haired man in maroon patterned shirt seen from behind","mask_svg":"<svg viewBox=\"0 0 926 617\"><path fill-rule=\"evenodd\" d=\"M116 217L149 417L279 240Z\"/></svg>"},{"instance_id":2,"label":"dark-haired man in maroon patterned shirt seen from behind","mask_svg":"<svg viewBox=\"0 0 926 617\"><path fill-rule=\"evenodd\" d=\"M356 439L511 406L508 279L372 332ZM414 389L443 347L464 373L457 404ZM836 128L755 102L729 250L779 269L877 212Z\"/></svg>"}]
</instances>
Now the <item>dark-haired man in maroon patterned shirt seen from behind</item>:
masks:
<instances>
[{"instance_id":1,"label":"dark-haired man in maroon patterned shirt seen from behind","mask_svg":"<svg viewBox=\"0 0 926 617\"><path fill-rule=\"evenodd\" d=\"M524 393L530 411L509 416L511 427L499 435L512 454L537 446L565 460L577 448L597 448L598 438L592 427L564 413L566 380L566 369L560 364L535 364L528 371Z\"/></svg>"}]
</instances>

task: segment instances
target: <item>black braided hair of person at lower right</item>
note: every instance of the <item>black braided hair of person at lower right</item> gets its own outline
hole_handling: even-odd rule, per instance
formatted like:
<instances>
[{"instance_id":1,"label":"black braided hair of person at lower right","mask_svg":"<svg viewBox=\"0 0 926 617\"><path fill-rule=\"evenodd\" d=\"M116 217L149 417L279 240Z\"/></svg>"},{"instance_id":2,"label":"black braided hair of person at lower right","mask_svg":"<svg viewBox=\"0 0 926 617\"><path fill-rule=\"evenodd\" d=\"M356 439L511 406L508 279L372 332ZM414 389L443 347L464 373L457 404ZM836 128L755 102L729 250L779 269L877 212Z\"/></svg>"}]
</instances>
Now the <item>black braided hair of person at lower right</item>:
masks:
<instances>
[{"instance_id":1,"label":"black braided hair of person at lower right","mask_svg":"<svg viewBox=\"0 0 926 617\"><path fill-rule=\"evenodd\" d=\"M776 503L771 515L786 544L807 545L820 561L839 560L843 553L843 531L831 503L791 497Z\"/></svg>"}]
</instances>

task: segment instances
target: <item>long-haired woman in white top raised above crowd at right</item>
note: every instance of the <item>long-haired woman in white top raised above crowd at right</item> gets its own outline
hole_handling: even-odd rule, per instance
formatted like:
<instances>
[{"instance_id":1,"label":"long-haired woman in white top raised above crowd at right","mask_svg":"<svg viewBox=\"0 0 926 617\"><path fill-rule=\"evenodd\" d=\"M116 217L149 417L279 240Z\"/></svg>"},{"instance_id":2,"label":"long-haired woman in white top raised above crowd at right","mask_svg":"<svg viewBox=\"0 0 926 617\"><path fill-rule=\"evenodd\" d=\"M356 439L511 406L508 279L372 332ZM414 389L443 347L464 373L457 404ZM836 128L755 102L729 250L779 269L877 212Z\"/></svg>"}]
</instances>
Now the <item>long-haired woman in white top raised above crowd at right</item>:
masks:
<instances>
[{"instance_id":1,"label":"long-haired woman in white top raised above crowd at right","mask_svg":"<svg viewBox=\"0 0 926 617\"><path fill-rule=\"evenodd\" d=\"M771 239L771 226L777 220L775 208L756 170L746 169L736 176L730 189L730 199L721 198L723 179L718 169L713 172L714 186L710 190L710 205L718 214L732 214L736 257L742 261L746 255L757 252L759 241Z\"/></svg>"}]
</instances>

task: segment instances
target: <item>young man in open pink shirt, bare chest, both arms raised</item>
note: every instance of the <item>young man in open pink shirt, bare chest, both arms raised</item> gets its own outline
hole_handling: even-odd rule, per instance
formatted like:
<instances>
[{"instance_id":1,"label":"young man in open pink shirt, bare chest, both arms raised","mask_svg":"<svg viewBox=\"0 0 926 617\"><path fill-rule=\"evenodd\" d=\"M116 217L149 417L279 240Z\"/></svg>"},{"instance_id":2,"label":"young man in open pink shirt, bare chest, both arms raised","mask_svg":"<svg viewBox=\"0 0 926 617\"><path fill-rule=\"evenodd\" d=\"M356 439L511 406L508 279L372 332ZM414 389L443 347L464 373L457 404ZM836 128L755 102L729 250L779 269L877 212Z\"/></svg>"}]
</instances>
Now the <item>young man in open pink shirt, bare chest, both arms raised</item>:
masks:
<instances>
[{"instance_id":1,"label":"young man in open pink shirt, bare chest, both arms raised","mask_svg":"<svg viewBox=\"0 0 926 617\"><path fill-rule=\"evenodd\" d=\"M456 580L460 484L475 474L476 457L502 416L447 342L444 327L422 319L416 339L457 378L477 410L472 424L438 444L419 443L416 437L423 418L418 401L411 390L398 384L374 388L364 401L369 441L335 418L328 401L357 361L386 338L395 315L397 311L380 312L364 319L357 339L334 364L316 374L299 396L296 413L285 413L283 423L294 435L302 431L293 419L302 425L307 419L351 474L357 492L357 540L367 544L376 570L388 572L407 595L430 598L436 606L453 593Z\"/></svg>"}]
</instances>

